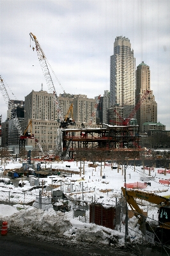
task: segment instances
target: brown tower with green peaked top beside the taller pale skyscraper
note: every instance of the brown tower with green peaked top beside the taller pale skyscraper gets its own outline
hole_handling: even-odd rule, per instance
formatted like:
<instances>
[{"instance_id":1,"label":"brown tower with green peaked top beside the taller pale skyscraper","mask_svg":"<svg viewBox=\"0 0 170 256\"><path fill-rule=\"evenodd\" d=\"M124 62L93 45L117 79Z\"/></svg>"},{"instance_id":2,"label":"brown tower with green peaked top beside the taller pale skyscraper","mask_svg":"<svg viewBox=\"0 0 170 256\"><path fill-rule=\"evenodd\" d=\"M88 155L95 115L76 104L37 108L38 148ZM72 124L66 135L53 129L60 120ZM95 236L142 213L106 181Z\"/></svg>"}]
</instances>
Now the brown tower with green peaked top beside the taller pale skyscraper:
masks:
<instances>
[{"instance_id":1,"label":"brown tower with green peaked top beside the taller pale skyscraper","mask_svg":"<svg viewBox=\"0 0 170 256\"><path fill-rule=\"evenodd\" d=\"M136 112L137 124L139 132L145 132L143 124L146 122L157 123L157 102L153 91L150 90L150 67L142 61L136 70L136 104L141 100L146 90L150 91L145 100L143 100L140 108Z\"/></svg>"}]
</instances>

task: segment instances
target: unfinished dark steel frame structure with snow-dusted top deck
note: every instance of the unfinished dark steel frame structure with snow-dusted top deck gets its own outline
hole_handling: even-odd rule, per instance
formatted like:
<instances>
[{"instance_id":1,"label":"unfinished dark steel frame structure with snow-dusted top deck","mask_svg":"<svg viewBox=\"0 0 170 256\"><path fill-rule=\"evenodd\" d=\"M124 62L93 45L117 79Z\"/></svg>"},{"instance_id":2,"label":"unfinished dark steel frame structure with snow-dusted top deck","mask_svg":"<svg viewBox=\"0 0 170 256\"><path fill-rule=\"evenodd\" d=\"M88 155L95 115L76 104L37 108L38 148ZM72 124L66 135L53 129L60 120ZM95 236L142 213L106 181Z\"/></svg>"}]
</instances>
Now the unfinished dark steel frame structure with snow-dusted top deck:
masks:
<instances>
[{"instance_id":1,"label":"unfinished dark steel frame structure with snow-dusted top deck","mask_svg":"<svg viewBox=\"0 0 170 256\"><path fill-rule=\"evenodd\" d=\"M116 150L139 152L139 126L102 125L99 128L63 129L63 150L71 141L69 156L80 148L84 150Z\"/></svg>"}]
</instances>

